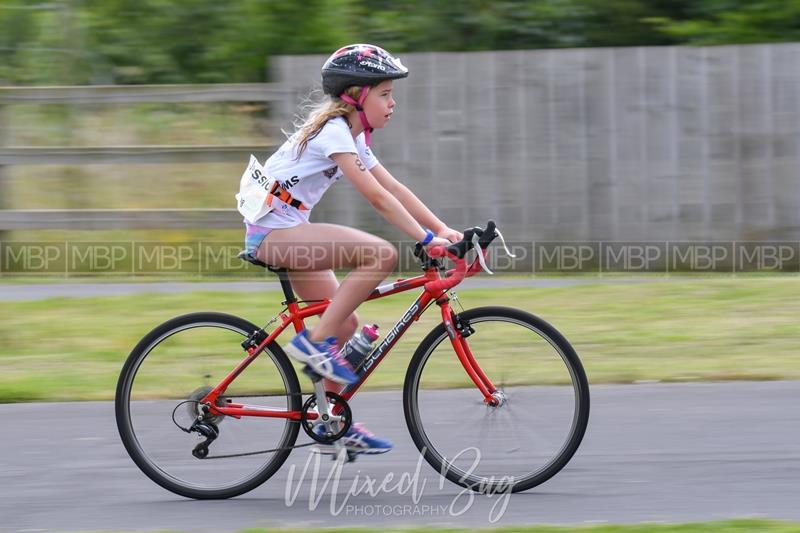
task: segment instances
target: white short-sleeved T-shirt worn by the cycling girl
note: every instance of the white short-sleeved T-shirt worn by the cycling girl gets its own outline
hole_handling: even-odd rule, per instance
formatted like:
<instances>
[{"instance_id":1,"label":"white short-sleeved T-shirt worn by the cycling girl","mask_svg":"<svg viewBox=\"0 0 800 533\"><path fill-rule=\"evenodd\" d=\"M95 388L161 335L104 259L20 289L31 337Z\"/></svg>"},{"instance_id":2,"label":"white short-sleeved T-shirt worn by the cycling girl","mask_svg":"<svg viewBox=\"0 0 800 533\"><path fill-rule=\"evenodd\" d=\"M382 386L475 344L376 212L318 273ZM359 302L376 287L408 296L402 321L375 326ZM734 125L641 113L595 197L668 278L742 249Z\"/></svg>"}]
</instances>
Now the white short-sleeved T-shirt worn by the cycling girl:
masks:
<instances>
[{"instance_id":1,"label":"white short-sleeved T-shirt worn by the cycling girl","mask_svg":"<svg viewBox=\"0 0 800 533\"><path fill-rule=\"evenodd\" d=\"M319 202L328 187L342 176L331 155L357 153L364 165L372 169L378 159L364 141L364 133L355 139L344 117L329 120L319 133L308 141L305 151L297 158L293 139L283 143L264 164L267 174L288 191L292 198L303 202L308 211L296 209L274 198L274 209L255 221L266 228L291 228L308 222L311 209Z\"/></svg>"}]
</instances>

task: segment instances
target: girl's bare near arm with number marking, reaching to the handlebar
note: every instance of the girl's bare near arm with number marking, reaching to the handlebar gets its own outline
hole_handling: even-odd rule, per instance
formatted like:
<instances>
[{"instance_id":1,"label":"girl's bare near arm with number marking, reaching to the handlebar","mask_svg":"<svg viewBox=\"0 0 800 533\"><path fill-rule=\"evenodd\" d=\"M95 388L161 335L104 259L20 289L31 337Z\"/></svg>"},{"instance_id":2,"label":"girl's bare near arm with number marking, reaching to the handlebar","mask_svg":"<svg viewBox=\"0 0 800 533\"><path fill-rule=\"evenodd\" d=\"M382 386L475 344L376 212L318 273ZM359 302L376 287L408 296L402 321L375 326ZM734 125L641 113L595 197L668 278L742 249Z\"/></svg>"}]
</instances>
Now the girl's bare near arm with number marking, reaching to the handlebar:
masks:
<instances>
[{"instance_id":1,"label":"girl's bare near arm with number marking, reaching to the handlebar","mask_svg":"<svg viewBox=\"0 0 800 533\"><path fill-rule=\"evenodd\" d=\"M350 180L358 192L364 195L383 218L416 241L421 241L425 238L425 230L419 225L419 222L406 210L398 198L387 191L375 179L375 176L367 170L358 154L332 154L331 159L339 165L347 179ZM417 201L419 202L419 200ZM435 228L431 228L431 230L436 231ZM449 242L443 238L434 237L430 245L435 244L446 245Z\"/></svg>"}]
</instances>

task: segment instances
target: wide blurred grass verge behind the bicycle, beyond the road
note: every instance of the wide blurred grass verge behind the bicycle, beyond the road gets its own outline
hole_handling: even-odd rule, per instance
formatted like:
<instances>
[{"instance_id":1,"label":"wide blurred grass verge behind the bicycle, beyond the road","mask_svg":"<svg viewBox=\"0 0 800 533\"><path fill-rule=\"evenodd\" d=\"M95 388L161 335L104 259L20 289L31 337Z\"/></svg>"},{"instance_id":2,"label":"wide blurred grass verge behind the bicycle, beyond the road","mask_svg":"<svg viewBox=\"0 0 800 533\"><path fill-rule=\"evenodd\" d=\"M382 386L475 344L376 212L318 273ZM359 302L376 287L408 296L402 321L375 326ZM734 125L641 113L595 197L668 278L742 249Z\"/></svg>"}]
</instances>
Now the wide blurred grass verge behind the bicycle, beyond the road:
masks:
<instances>
[{"instance_id":1,"label":"wide blurred grass verge behind the bicycle, beyond the road","mask_svg":"<svg viewBox=\"0 0 800 533\"><path fill-rule=\"evenodd\" d=\"M515 306L549 321L578 351L592 383L800 379L798 283L795 277L728 278L472 290L460 296L465 308ZM385 332L413 297L368 302L359 310L361 320L377 322ZM217 292L2 302L0 401L110 399L125 357L157 324L214 310L263 325L279 311L278 301L275 292ZM367 388L401 387L414 348L437 316L433 308L414 324ZM198 361L186 358L170 372L197 373ZM216 359L208 362L214 372L219 367ZM519 367L520 379L528 379L530 366ZM452 369L440 368L437 386L460 382Z\"/></svg>"}]
</instances>

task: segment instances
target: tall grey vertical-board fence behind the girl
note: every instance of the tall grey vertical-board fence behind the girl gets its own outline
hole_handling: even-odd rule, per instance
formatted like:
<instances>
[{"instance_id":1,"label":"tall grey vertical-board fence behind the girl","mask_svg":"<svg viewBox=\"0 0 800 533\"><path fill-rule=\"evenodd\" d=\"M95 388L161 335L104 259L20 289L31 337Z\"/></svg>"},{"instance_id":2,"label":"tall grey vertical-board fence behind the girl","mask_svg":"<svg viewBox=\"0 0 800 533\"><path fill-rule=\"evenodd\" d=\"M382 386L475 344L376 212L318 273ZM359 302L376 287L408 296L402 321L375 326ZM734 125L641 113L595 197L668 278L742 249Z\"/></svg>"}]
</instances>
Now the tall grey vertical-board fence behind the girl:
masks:
<instances>
[{"instance_id":1,"label":"tall grey vertical-board fence behind the girl","mask_svg":"<svg viewBox=\"0 0 800 533\"><path fill-rule=\"evenodd\" d=\"M401 56L381 162L453 227L520 240L800 238L800 44ZM324 56L276 61L289 101ZM291 100L294 100L293 102ZM387 236L349 184L316 220Z\"/></svg>"}]
</instances>

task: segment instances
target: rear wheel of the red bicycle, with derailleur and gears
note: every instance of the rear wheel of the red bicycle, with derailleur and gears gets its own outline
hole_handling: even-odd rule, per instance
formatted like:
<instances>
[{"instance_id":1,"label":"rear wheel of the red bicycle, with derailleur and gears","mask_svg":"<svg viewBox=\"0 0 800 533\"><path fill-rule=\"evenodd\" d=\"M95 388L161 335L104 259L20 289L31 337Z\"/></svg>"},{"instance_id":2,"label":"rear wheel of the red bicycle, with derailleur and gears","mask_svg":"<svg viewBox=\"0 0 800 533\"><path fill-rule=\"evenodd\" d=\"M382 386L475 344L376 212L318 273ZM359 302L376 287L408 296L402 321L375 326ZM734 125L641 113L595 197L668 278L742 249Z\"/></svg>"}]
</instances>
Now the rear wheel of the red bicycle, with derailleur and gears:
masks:
<instances>
[{"instance_id":1,"label":"rear wheel of the red bicycle, with derailleur and gears","mask_svg":"<svg viewBox=\"0 0 800 533\"><path fill-rule=\"evenodd\" d=\"M285 418L207 416L201 431L185 431L203 414L198 400L244 359L241 342L257 329L235 316L194 313L158 326L131 352L117 384L117 427L133 461L162 487L188 498L230 498L262 484L289 456L299 424ZM229 400L300 410L297 375L277 344L217 403Z\"/></svg>"}]
</instances>

